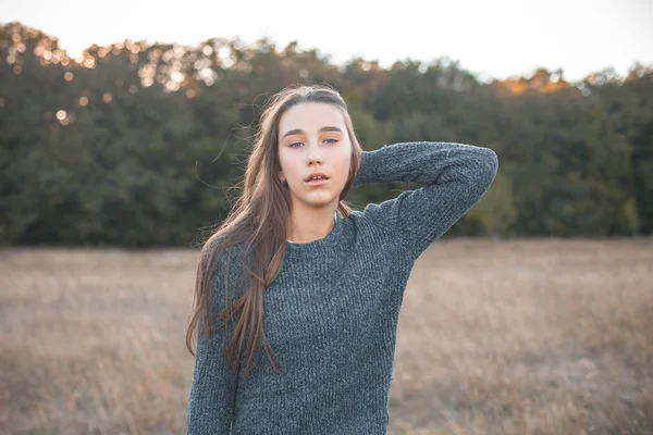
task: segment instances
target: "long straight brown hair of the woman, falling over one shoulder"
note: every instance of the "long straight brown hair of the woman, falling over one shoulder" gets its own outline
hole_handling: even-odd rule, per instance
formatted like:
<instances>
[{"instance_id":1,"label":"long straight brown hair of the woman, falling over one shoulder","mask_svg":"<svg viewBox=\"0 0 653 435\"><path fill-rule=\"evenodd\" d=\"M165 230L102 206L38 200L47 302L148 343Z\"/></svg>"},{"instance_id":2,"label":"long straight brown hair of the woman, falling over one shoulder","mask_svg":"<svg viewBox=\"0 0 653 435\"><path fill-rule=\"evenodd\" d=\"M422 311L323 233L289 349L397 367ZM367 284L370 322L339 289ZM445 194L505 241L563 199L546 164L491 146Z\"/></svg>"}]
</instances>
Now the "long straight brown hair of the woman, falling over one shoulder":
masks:
<instances>
[{"instance_id":1,"label":"long straight brown hair of the woman, falling over one shoulder","mask_svg":"<svg viewBox=\"0 0 653 435\"><path fill-rule=\"evenodd\" d=\"M304 102L333 104L343 113L352 142L352 164L347 183L340 194L336 213L346 217L353 211L343 198L356 181L362 149L356 138L345 100L326 85L291 85L273 95L261 113L256 142L245 170L243 194L237 198L230 215L202 246L195 281L194 313L186 333L186 347L195 356L192 340L196 337L200 316L204 320L201 330L207 338L222 327L226 331L227 323L237 318L227 349L227 365L234 373L239 370L241 352L247 339L248 360L245 376L249 373L259 340L272 366L279 373L262 327L263 291L281 268L286 250L291 210L288 187L282 184L278 176L281 171L278 149L279 121L289 108ZM239 244L245 247L244 256L236 257L237 265L247 271L244 273L247 276L243 284L245 291L234 302L220 310L218 315L224 322L211 331L209 316L212 315L210 308L214 303L210 300L211 276L218 269L225 249ZM250 256L252 252L255 254ZM227 259L229 257L227 254ZM224 273L225 279L229 276L229 272ZM210 340L207 339L207 343ZM234 359L236 346L237 355Z\"/></svg>"}]
</instances>

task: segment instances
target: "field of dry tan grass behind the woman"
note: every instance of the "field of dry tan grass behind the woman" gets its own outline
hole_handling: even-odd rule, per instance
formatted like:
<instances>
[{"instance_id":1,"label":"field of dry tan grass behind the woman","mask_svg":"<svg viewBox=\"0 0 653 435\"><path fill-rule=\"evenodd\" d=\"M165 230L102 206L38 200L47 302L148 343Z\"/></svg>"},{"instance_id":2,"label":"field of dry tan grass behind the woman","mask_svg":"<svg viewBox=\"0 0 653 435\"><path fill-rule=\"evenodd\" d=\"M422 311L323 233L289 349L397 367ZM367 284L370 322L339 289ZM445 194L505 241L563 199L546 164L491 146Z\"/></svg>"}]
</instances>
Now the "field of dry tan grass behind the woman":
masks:
<instances>
[{"instance_id":1,"label":"field of dry tan grass behind the woman","mask_svg":"<svg viewBox=\"0 0 653 435\"><path fill-rule=\"evenodd\" d=\"M196 250L0 250L0 433L182 434ZM653 240L441 240L390 434L652 434Z\"/></svg>"}]
</instances>

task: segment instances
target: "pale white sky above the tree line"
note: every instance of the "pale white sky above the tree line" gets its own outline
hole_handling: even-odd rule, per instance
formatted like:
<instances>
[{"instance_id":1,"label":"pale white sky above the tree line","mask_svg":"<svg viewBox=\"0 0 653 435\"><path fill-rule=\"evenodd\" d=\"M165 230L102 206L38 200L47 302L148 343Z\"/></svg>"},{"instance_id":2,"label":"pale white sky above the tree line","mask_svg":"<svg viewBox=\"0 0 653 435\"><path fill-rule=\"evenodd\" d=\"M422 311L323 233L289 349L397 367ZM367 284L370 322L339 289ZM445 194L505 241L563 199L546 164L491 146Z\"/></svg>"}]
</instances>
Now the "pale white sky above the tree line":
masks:
<instances>
[{"instance_id":1,"label":"pale white sky above the tree line","mask_svg":"<svg viewBox=\"0 0 653 435\"><path fill-rule=\"evenodd\" d=\"M0 23L20 21L56 36L70 55L124 39L196 45L239 35L292 40L334 63L355 55L386 67L396 60L458 60L480 78L562 67L578 80L636 61L653 64L651 0L22 0L3 1Z\"/></svg>"}]
</instances>

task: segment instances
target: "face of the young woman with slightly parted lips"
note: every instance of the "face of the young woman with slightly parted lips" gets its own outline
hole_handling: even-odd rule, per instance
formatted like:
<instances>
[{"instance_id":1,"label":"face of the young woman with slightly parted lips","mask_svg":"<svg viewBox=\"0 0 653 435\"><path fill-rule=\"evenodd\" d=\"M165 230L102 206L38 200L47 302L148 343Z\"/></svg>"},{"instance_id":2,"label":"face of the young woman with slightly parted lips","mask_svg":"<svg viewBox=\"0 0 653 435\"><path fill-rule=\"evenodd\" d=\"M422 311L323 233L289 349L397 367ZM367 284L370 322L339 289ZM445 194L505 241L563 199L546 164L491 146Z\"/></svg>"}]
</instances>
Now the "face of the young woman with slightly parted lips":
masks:
<instances>
[{"instance_id":1,"label":"face of the young woman with slightly parted lips","mask_svg":"<svg viewBox=\"0 0 653 435\"><path fill-rule=\"evenodd\" d=\"M279 177L287 182L293 201L337 204L352 164L352 142L340 109L319 102L293 105L281 116L278 135ZM328 179L308 182L315 172Z\"/></svg>"}]
</instances>

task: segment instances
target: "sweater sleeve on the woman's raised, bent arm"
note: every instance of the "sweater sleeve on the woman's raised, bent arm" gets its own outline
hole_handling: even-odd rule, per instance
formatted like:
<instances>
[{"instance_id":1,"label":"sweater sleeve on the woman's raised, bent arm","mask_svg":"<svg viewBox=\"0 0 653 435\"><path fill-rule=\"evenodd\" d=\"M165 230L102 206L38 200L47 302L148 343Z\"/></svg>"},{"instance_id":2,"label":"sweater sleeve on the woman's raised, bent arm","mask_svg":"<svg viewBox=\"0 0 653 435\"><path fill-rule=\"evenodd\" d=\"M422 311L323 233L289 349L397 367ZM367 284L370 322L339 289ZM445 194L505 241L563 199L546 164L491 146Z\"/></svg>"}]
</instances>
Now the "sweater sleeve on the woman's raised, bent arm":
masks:
<instances>
[{"instance_id":1,"label":"sweater sleeve on the woman's raised, bent arm","mask_svg":"<svg viewBox=\"0 0 653 435\"><path fill-rule=\"evenodd\" d=\"M485 194L498 157L484 147L455 142L399 142L362 152L354 186L402 182L423 186L370 203L364 214L396 233L417 259Z\"/></svg>"}]
</instances>

